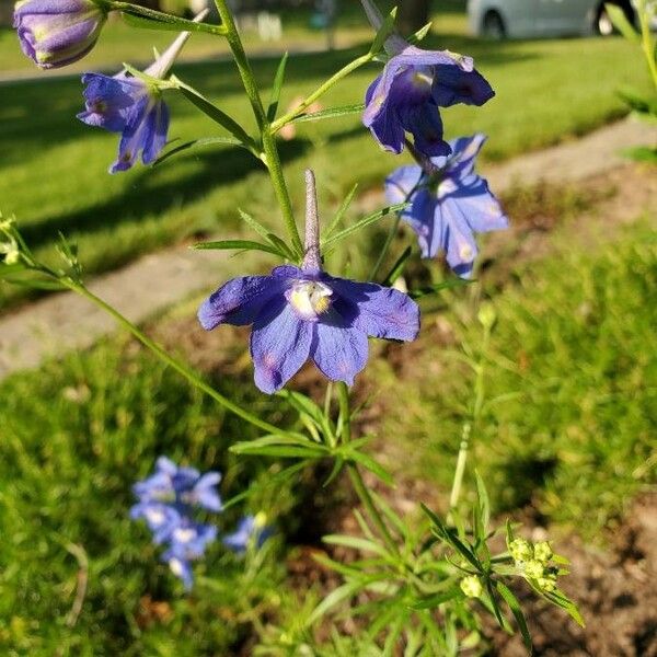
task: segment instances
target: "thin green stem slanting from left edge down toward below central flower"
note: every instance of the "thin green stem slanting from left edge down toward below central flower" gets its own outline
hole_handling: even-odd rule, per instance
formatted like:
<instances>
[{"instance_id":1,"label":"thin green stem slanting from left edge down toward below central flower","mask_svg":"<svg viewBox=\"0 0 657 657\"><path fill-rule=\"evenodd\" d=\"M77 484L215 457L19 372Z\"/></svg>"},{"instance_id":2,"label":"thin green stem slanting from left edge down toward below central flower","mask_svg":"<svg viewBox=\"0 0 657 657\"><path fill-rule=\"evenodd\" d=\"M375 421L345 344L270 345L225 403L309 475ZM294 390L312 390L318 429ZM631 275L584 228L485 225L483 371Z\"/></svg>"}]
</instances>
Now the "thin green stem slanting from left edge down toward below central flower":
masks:
<instances>
[{"instance_id":1,"label":"thin green stem slanting from left edge down toward below central flower","mask_svg":"<svg viewBox=\"0 0 657 657\"><path fill-rule=\"evenodd\" d=\"M146 333L143 333L140 328L135 326L127 318L120 314L115 308L112 308L108 303L103 301L100 297L96 297L92 291L87 289L83 285L73 283L72 280L67 280L65 278L59 278L60 283L66 285L70 290L77 292L78 295L84 297L100 309L104 310L106 313L112 315L124 328L129 331L145 347L149 348L160 360L172 367L175 371L181 373L183 377L189 381L193 385L211 396L216 402L218 402L221 406L223 406L227 411L234 413L242 419L251 423L252 425L267 431L268 434L278 433L279 429L274 425L265 422L264 419L260 419L260 417L249 413L241 406L238 406L235 403L231 402L229 399L224 397L220 392L215 390L211 385L206 383L196 372L194 372L187 365L176 360L173 356L168 354L158 343L152 341Z\"/></svg>"}]
</instances>

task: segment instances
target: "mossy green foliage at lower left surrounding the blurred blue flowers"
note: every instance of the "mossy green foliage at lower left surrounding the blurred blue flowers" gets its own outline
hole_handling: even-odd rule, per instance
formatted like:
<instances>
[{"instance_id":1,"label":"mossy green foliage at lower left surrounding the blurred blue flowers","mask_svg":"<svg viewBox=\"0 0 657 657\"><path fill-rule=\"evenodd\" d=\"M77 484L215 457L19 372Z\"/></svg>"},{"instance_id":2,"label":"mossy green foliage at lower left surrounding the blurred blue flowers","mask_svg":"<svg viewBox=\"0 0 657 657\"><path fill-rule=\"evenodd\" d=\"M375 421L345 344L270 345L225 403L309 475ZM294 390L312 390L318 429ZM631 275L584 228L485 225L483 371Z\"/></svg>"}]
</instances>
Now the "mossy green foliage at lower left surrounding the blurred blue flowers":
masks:
<instances>
[{"instance_id":1,"label":"mossy green foliage at lower left surrounding the blurred blue flowers","mask_svg":"<svg viewBox=\"0 0 657 657\"><path fill-rule=\"evenodd\" d=\"M242 403L262 404L230 388ZM260 488L252 510L270 518L292 502L288 485L270 487L275 464L228 452L249 426L135 345L113 341L8 379L0 415L3 655L226 654L251 634L252 609L284 604L276 542L251 568L216 544L185 597L146 527L128 519L130 486L161 453L224 472L224 497L251 483ZM238 517L238 509L222 515L221 528L232 531ZM79 553L89 584L77 618Z\"/></svg>"}]
</instances>

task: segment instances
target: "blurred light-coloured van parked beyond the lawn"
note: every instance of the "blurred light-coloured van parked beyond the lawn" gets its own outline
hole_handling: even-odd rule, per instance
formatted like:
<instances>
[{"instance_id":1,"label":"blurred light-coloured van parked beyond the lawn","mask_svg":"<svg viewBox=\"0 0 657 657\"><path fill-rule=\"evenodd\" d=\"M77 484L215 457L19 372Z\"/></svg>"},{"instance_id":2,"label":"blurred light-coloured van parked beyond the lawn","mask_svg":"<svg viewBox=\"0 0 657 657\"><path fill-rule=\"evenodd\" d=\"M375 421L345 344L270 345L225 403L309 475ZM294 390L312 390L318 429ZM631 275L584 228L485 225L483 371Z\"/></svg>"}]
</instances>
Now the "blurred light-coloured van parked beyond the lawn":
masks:
<instances>
[{"instance_id":1,"label":"blurred light-coloured van parked beyond the lawn","mask_svg":"<svg viewBox=\"0 0 657 657\"><path fill-rule=\"evenodd\" d=\"M635 20L633 0L469 0L470 30L488 38L610 35L606 2Z\"/></svg>"}]
</instances>

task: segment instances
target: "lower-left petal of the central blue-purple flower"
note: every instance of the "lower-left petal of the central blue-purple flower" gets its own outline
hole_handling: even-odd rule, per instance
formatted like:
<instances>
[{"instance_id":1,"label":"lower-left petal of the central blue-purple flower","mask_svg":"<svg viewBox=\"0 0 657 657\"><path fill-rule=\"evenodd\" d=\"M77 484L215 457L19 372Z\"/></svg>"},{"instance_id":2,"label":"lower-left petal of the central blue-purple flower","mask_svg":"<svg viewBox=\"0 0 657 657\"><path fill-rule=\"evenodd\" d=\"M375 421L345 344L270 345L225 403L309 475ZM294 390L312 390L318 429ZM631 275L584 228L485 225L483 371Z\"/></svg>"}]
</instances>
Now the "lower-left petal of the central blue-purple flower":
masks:
<instances>
[{"instance_id":1,"label":"lower-left petal of the central blue-purple flower","mask_svg":"<svg viewBox=\"0 0 657 657\"><path fill-rule=\"evenodd\" d=\"M256 319L251 334L255 384L267 394L280 390L308 360L312 322L300 320L285 297Z\"/></svg>"}]
</instances>

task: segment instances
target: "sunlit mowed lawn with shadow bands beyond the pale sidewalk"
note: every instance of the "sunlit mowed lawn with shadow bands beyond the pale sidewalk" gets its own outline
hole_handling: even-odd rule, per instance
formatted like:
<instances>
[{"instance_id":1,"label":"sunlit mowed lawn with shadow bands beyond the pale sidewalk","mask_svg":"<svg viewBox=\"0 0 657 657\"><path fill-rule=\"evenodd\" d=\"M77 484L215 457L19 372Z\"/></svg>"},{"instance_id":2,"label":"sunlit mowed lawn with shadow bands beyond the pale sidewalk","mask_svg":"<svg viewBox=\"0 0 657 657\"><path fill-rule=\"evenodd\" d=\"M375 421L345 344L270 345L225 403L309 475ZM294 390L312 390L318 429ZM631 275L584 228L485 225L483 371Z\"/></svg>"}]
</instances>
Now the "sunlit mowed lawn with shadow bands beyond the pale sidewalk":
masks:
<instances>
[{"instance_id":1,"label":"sunlit mowed lawn with shadow bands beyond the pale sidewalk","mask_svg":"<svg viewBox=\"0 0 657 657\"><path fill-rule=\"evenodd\" d=\"M293 56L283 106L308 94L366 47ZM632 46L620 38L494 44L456 34L429 38L427 47L473 55L496 89L497 96L483 108L461 106L443 113L449 137L475 130L489 135L484 151L488 161L568 139L621 116L625 110L614 91L623 84L641 88L647 80ZM116 48L120 49L118 44ZM142 51L147 56L146 44ZM265 99L276 67L274 58L254 65ZM324 104L359 102L379 70L372 65L356 72L327 94ZM229 62L181 65L176 72L253 128ZM117 137L76 118L82 108L81 92L78 78L1 87L0 207L5 215L15 214L37 252L49 250L62 231L78 241L87 270L93 274L191 234L232 233L238 229L238 207L279 226L266 173L234 148L186 152L155 169L139 165L110 176ZM170 94L168 101L172 140L220 134L184 99ZM354 183L380 186L393 168L407 161L407 155L382 153L357 116L307 124L280 149L297 208L302 171L313 166L325 212ZM0 303L9 301L8 292L0 291Z\"/></svg>"}]
</instances>

